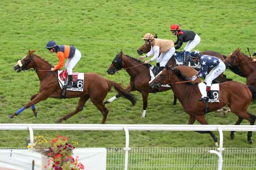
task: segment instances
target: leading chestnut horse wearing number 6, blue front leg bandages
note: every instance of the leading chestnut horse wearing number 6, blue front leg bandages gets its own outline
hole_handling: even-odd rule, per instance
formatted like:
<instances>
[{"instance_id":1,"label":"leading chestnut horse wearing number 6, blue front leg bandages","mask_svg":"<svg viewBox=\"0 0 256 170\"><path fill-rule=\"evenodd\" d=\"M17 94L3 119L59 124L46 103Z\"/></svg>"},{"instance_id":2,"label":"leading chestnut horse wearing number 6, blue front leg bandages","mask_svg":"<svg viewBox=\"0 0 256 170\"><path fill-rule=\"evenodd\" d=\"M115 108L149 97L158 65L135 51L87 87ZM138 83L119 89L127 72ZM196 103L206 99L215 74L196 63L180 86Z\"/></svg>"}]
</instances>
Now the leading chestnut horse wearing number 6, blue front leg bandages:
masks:
<instances>
[{"instance_id":1,"label":"leading chestnut horse wearing number 6, blue front leg bandages","mask_svg":"<svg viewBox=\"0 0 256 170\"><path fill-rule=\"evenodd\" d=\"M14 69L17 72L20 72L21 70L34 68L40 80L39 93L32 95L31 102L28 102L19 111L13 113L12 115L9 115L9 118L13 118L15 115L19 115L20 112L31 106L33 112L36 113L34 104L46 100L48 97L58 99L61 98L61 88L59 86L57 78L58 71L51 72L51 64L48 63L46 60L42 59L41 57L35 55L34 52L35 51L29 50L28 55L22 58L22 60L19 60L18 64L14 66ZM120 84L107 80L96 73L85 73L84 82L85 84L83 91L67 91L67 98L80 97L80 100L74 112L71 112L68 115L62 117L57 122L67 120L69 117L83 110L85 102L90 98L91 102L93 102L96 108L98 108L98 110L100 110L100 112L102 113L103 119L101 123L104 124L108 116L108 110L105 108L103 100L105 99L108 91L111 89L112 86L114 86L115 90L122 97L130 100L133 105L136 103L134 97L128 92L126 92L126 90L124 90L120 86Z\"/></svg>"}]
</instances>

